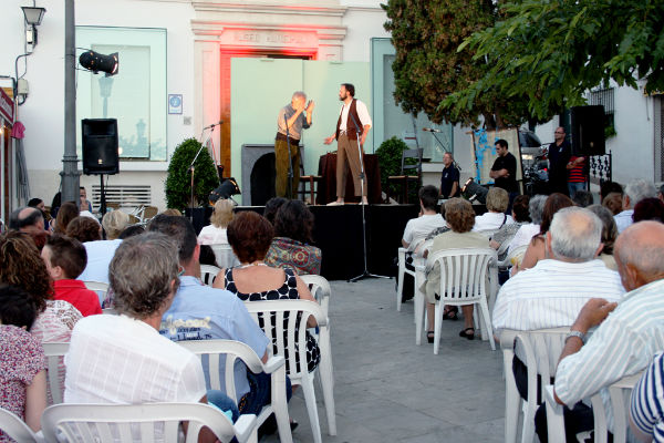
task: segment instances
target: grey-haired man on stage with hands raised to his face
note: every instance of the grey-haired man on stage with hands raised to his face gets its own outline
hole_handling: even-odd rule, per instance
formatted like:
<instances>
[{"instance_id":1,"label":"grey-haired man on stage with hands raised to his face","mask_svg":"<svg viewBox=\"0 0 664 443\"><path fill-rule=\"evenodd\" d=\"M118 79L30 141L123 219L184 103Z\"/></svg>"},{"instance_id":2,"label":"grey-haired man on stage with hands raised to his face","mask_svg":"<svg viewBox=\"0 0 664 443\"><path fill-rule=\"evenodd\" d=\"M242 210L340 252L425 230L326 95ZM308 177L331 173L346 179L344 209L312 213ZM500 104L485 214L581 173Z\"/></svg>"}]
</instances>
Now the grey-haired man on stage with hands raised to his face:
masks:
<instances>
[{"instance_id":1,"label":"grey-haired man on stage with hands raised to his face","mask_svg":"<svg viewBox=\"0 0 664 443\"><path fill-rule=\"evenodd\" d=\"M278 197L294 198L300 185L300 138L302 130L311 126L311 114L315 104L309 101L307 107L307 94L295 91L290 104L279 111L277 117L277 137L274 138L274 159L277 178L274 179L274 192ZM289 156L290 145L290 156ZM288 172L293 168L292 183L289 186Z\"/></svg>"}]
</instances>

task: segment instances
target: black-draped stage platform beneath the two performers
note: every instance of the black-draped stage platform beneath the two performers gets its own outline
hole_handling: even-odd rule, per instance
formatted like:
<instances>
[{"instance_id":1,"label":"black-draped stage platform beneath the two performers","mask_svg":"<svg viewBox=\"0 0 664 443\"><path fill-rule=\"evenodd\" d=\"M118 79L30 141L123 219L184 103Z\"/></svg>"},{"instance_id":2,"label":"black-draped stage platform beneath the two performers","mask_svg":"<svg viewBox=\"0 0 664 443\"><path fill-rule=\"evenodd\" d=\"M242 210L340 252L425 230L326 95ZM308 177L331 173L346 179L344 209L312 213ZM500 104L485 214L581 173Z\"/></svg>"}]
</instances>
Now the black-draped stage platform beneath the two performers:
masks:
<instances>
[{"instance_id":1,"label":"black-draped stage platform beneath the two performers","mask_svg":"<svg viewBox=\"0 0 664 443\"><path fill-rule=\"evenodd\" d=\"M364 271L362 247L362 206L310 206L315 217L314 245L323 253L321 275L328 280L347 280ZM236 212L263 206L238 206ZM369 205L366 218L367 268L372 274L394 276L392 267L406 223L419 213L419 205ZM195 209L194 227L199 233L209 224L211 208ZM187 212L188 216L188 212Z\"/></svg>"}]
</instances>

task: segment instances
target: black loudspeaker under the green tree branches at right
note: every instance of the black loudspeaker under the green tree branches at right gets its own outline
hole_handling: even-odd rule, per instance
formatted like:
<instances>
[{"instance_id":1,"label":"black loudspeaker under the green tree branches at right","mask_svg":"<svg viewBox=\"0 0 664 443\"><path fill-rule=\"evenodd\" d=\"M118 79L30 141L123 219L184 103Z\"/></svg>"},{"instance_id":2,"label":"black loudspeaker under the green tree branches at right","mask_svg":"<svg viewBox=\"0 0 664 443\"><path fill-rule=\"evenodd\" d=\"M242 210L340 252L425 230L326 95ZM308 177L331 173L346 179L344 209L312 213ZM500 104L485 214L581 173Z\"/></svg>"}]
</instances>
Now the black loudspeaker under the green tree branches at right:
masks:
<instances>
[{"instance_id":1,"label":"black loudspeaker under the green tree branches at right","mask_svg":"<svg viewBox=\"0 0 664 443\"><path fill-rule=\"evenodd\" d=\"M604 155L604 106L573 106L570 111L574 155Z\"/></svg>"}]
</instances>

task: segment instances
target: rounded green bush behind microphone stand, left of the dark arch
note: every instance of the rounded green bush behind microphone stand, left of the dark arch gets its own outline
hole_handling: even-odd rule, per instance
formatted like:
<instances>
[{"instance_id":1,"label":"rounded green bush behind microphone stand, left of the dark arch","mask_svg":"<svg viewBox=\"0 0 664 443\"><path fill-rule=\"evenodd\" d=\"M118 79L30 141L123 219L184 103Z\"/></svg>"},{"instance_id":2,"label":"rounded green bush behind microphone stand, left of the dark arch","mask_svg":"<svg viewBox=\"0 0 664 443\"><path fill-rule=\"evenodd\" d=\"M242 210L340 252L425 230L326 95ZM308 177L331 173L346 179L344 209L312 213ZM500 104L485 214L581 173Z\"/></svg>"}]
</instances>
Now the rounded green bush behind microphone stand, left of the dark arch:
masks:
<instances>
[{"instance_id":1,"label":"rounded green bush behind microphone stand, left of the dark arch","mask_svg":"<svg viewBox=\"0 0 664 443\"><path fill-rule=\"evenodd\" d=\"M215 162L206 150L201 151L194 164L194 204L191 205L191 171L189 165L200 150L196 138L180 143L170 157L166 177L166 204L169 208L184 210L188 206L199 206L207 202L209 193L219 185Z\"/></svg>"}]
</instances>

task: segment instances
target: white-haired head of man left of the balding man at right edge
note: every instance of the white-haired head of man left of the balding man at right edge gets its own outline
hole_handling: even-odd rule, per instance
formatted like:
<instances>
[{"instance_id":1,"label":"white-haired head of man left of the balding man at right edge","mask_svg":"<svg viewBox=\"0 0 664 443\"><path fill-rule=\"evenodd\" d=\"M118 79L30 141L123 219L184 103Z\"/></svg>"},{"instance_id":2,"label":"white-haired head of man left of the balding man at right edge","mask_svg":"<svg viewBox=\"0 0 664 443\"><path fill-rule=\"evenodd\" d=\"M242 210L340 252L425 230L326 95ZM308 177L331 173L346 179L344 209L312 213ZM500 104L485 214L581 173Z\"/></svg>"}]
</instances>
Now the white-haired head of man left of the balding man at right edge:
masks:
<instances>
[{"instance_id":1,"label":"white-haired head of man left of the balding man at right edge","mask_svg":"<svg viewBox=\"0 0 664 443\"><path fill-rule=\"evenodd\" d=\"M592 260L602 241L602 226L600 217L585 208L560 209L549 228L553 256L572 261Z\"/></svg>"}]
</instances>

